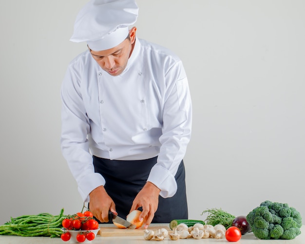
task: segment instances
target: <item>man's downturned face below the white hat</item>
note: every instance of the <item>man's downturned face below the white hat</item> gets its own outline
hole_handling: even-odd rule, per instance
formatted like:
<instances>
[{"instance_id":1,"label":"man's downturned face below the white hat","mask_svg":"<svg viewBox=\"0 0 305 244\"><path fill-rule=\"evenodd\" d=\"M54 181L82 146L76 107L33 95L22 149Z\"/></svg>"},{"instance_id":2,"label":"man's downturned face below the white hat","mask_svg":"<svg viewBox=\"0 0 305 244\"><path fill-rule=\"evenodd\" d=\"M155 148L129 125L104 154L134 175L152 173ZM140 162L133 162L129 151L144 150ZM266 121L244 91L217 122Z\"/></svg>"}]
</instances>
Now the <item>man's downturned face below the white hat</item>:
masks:
<instances>
[{"instance_id":1,"label":"man's downturned face below the white hat","mask_svg":"<svg viewBox=\"0 0 305 244\"><path fill-rule=\"evenodd\" d=\"M90 52L92 57L104 71L108 72L109 75L116 76L122 74L126 68L131 50L131 40L125 39L114 48L103 51L91 50Z\"/></svg>"}]
</instances>

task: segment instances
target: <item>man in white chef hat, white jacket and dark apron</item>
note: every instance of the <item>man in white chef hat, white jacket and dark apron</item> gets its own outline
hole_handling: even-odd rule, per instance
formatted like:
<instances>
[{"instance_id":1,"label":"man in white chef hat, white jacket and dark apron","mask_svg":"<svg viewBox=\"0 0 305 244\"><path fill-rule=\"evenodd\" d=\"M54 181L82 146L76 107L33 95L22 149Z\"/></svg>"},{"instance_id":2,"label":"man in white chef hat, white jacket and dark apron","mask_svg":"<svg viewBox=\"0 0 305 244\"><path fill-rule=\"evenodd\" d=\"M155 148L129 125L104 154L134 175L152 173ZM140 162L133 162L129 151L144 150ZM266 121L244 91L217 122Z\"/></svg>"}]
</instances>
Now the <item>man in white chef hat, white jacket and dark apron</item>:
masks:
<instances>
[{"instance_id":1,"label":"man in white chef hat, white jacket and dark apron","mask_svg":"<svg viewBox=\"0 0 305 244\"><path fill-rule=\"evenodd\" d=\"M78 13L70 40L87 50L63 79L61 149L96 219L139 208L147 228L188 218L191 97L179 57L130 28L137 16L134 0L90 0Z\"/></svg>"}]
</instances>

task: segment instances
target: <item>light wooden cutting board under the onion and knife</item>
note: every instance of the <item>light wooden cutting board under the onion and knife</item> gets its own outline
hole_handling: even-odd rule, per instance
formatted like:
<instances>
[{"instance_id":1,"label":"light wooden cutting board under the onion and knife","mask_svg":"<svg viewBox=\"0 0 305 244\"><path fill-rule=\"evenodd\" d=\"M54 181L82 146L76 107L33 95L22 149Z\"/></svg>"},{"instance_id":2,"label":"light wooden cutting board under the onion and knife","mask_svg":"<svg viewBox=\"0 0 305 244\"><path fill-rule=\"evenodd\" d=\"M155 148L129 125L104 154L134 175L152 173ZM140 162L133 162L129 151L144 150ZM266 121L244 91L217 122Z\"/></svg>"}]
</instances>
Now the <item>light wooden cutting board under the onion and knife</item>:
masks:
<instances>
[{"instance_id":1,"label":"light wooden cutting board under the onion and knife","mask_svg":"<svg viewBox=\"0 0 305 244\"><path fill-rule=\"evenodd\" d=\"M157 229L165 228L171 232L172 230L169 226L169 224L151 224L148 229L156 231ZM112 224L102 224L99 227L100 230L97 234L101 236L143 236L145 230L143 227L138 229L120 229Z\"/></svg>"}]
</instances>

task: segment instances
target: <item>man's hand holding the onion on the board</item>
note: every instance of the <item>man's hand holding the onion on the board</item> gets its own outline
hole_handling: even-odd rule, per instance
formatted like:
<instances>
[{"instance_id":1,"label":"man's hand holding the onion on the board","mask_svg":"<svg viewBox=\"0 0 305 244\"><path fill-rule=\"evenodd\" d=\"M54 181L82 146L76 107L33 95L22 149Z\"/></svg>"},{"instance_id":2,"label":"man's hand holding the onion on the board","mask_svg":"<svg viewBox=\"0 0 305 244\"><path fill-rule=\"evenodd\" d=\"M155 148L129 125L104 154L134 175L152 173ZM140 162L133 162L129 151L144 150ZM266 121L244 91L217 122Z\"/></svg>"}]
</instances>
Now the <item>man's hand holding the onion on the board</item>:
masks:
<instances>
[{"instance_id":1,"label":"man's hand holding the onion on the board","mask_svg":"<svg viewBox=\"0 0 305 244\"><path fill-rule=\"evenodd\" d=\"M138 209L138 207L142 207L142 213L139 219L144 219L145 229L152 223L154 213L157 211L160 191L151 182L147 182L133 200L133 206L130 212Z\"/></svg>"}]
</instances>

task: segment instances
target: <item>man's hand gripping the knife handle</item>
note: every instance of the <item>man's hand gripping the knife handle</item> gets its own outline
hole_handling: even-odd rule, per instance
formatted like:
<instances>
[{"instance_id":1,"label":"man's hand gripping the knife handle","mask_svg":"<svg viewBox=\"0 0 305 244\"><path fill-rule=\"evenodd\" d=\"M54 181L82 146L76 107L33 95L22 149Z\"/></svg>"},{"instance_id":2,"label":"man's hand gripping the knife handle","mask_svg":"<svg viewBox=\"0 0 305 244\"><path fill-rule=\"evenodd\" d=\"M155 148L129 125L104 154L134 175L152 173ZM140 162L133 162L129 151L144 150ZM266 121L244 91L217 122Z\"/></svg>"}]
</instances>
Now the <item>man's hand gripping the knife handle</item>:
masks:
<instances>
[{"instance_id":1,"label":"man's hand gripping the knife handle","mask_svg":"<svg viewBox=\"0 0 305 244\"><path fill-rule=\"evenodd\" d=\"M103 186L99 186L90 192L90 204L89 208L93 215L100 222L108 222L108 213L109 210L114 214L117 214L115 211L115 204L112 198L107 194Z\"/></svg>"}]
</instances>

